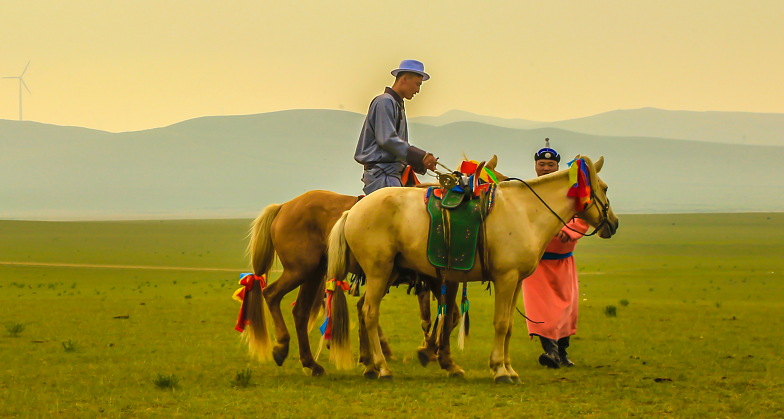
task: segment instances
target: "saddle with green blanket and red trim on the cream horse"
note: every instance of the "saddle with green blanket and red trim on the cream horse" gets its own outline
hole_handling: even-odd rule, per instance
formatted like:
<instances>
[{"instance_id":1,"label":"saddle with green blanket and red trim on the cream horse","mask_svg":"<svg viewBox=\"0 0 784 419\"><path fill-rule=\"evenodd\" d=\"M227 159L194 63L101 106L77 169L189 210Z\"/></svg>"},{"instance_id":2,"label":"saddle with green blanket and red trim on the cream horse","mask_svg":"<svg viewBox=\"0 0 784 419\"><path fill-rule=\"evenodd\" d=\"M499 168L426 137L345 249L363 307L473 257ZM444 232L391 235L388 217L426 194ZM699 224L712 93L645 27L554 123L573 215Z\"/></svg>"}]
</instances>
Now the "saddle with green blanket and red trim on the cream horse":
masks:
<instances>
[{"instance_id":1,"label":"saddle with green blanket and red trim on the cream horse","mask_svg":"<svg viewBox=\"0 0 784 419\"><path fill-rule=\"evenodd\" d=\"M477 247L484 243L484 222L493 208L497 184L485 162L464 161L446 186L425 194L430 230L428 261L436 268L469 271ZM485 171L486 170L486 171Z\"/></svg>"}]
</instances>

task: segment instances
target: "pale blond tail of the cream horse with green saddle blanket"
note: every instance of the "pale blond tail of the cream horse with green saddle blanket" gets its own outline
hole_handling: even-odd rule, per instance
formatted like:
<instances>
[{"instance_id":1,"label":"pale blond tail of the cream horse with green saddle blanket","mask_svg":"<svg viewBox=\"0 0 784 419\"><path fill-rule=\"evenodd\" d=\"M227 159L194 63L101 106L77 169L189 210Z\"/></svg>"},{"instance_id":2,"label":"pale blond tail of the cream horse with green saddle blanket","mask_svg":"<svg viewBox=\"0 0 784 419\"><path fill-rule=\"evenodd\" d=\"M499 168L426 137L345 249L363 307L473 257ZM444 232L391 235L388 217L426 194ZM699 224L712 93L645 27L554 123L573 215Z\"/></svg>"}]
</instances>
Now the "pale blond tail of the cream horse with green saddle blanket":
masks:
<instances>
[{"instance_id":1,"label":"pale blond tail of the cream horse with green saddle blanket","mask_svg":"<svg viewBox=\"0 0 784 419\"><path fill-rule=\"evenodd\" d=\"M330 322L332 323L332 340L329 346L329 359L340 369L354 367L351 354L351 339L349 337L349 313L346 294L341 284L348 275L350 249L346 241L344 227L348 211L344 212L329 233L329 262L327 278L333 280L334 292L332 306L330 307ZM328 288L332 288L331 286Z\"/></svg>"}]
</instances>

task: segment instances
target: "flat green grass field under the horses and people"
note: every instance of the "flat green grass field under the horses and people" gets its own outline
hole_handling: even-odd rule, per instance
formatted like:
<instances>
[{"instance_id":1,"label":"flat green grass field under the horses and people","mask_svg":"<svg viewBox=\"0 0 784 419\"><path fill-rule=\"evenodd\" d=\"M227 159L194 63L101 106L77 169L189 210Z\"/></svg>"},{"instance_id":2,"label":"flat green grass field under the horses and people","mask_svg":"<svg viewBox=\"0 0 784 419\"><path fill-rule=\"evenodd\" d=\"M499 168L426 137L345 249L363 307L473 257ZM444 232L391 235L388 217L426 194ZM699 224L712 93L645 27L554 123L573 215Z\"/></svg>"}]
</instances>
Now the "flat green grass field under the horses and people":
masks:
<instances>
[{"instance_id":1,"label":"flat green grass field under the horses and people","mask_svg":"<svg viewBox=\"0 0 784 419\"><path fill-rule=\"evenodd\" d=\"M518 317L512 386L487 368L492 299L479 284L455 353L466 380L419 365L416 299L402 288L381 317L395 381L336 371L324 355L328 375L314 379L294 341L283 367L259 364L233 330L248 220L0 221L0 262L225 269L0 264L0 417L784 417L784 214L620 218L615 238L576 251L577 366L539 366ZM247 368L250 386L233 385ZM160 374L179 382L160 389Z\"/></svg>"}]
</instances>

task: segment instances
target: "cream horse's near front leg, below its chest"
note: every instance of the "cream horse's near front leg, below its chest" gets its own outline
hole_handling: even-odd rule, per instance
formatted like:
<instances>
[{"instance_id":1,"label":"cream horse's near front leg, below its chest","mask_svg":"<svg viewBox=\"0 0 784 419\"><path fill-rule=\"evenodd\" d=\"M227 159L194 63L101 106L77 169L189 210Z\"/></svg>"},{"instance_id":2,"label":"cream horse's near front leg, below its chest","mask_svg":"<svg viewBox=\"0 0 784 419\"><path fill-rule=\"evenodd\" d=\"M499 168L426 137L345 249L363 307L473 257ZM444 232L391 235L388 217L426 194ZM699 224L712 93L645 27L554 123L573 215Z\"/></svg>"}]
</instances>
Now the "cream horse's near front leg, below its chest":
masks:
<instances>
[{"instance_id":1,"label":"cream horse's near front leg, below its chest","mask_svg":"<svg viewBox=\"0 0 784 419\"><path fill-rule=\"evenodd\" d=\"M514 309L515 289L518 284L516 271L507 272L494 279L495 287L495 313L493 315L493 326L495 336L493 337L493 350L490 352L490 369L493 370L493 378L496 383L512 383L509 371L506 369L505 345L506 335L509 333L511 322L511 310Z\"/></svg>"}]
</instances>

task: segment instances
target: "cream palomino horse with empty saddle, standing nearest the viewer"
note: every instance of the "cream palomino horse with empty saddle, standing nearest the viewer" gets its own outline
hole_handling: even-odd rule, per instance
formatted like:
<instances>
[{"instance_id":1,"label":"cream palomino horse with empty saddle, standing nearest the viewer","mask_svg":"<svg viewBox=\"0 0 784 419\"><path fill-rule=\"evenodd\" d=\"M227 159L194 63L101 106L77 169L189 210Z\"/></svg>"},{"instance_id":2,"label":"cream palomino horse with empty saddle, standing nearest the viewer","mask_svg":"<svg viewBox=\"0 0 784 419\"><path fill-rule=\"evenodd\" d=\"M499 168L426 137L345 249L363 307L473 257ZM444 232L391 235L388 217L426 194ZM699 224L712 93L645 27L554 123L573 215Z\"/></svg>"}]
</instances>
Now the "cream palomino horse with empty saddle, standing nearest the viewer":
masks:
<instances>
[{"instance_id":1,"label":"cream palomino horse with empty saddle, standing nearest the viewer","mask_svg":"<svg viewBox=\"0 0 784 419\"><path fill-rule=\"evenodd\" d=\"M618 228L618 218L607 200L607 185L597 175L604 158L600 158L595 165L587 157L583 159L592 190L591 204L582 211L576 210L574 198L567 197L571 186L569 170L561 170L527 183L501 182L496 191L495 206L484 227L487 240L485 248L488 252L486 260L489 260L489 266L484 268L489 274L486 279L493 281L495 286L495 338L490 354L490 368L498 383L520 380L512 369L509 355L515 304L522 280L536 269L547 244L562 227L562 220L568 221L577 215L598 228L602 238L612 237ZM392 371L381 352L378 321L381 299L395 279L393 265L413 269L423 275L438 275L427 257L430 219L425 208L424 193L410 188L389 188L375 192L344 213L330 234L328 276L344 278L346 266L352 258L367 275L362 315L372 362L366 364L366 377L378 375L381 378L392 378ZM443 279L457 283L482 281L482 267L478 265L475 264L468 272L443 271ZM455 296L447 293L446 297L449 301ZM449 310L447 307L446 318L451 316ZM449 326L449 322L445 322L442 342L449 341ZM439 358L450 358L448 349L443 353L441 349ZM451 359L441 362L452 364L446 368L450 375L464 374Z\"/></svg>"}]
</instances>

